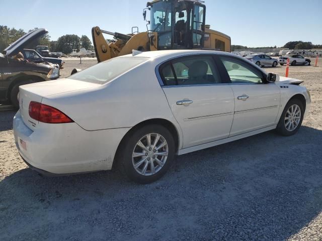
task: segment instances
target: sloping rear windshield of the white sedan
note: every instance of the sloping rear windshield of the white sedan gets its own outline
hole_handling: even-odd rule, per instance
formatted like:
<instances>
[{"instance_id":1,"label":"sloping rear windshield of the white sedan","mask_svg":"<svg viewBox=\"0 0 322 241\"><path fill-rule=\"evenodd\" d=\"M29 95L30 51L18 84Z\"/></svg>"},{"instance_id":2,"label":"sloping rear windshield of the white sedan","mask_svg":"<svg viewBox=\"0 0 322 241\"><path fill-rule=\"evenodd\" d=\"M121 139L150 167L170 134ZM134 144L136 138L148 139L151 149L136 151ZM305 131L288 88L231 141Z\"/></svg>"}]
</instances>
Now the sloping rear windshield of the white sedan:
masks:
<instances>
[{"instance_id":1,"label":"sloping rear windshield of the white sedan","mask_svg":"<svg viewBox=\"0 0 322 241\"><path fill-rule=\"evenodd\" d=\"M113 58L97 65L94 65L81 72L69 76L69 79L81 80L91 83L107 83L128 70L147 61L144 57L122 57Z\"/></svg>"}]
</instances>

